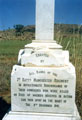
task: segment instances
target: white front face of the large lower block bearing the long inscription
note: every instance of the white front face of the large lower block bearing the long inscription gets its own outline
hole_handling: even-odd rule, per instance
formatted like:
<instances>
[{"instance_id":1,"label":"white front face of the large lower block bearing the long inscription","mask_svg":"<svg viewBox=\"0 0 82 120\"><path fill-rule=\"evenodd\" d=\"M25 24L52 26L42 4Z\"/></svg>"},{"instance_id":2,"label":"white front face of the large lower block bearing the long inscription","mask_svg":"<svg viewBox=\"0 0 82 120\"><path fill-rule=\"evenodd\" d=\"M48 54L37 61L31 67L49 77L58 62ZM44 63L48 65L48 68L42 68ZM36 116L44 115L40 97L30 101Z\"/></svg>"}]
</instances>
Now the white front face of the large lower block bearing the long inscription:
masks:
<instances>
[{"instance_id":1,"label":"white front face of the large lower block bearing the long inscription","mask_svg":"<svg viewBox=\"0 0 82 120\"><path fill-rule=\"evenodd\" d=\"M20 68L20 67L19 67ZM25 69L26 70L26 69ZM61 72L58 69L50 68L27 68L25 74L15 73L12 76L12 84L14 91L12 94L13 106L17 111L31 112L57 112L66 108L66 112L70 112L71 106L67 104L73 103L74 96L71 94L70 85L71 78L64 76L61 79ZM63 74L63 73L62 73ZM17 104L17 108L16 108ZM73 108L71 108L73 111ZM59 112L59 111L58 111ZM65 111L64 111L65 112Z\"/></svg>"}]
</instances>

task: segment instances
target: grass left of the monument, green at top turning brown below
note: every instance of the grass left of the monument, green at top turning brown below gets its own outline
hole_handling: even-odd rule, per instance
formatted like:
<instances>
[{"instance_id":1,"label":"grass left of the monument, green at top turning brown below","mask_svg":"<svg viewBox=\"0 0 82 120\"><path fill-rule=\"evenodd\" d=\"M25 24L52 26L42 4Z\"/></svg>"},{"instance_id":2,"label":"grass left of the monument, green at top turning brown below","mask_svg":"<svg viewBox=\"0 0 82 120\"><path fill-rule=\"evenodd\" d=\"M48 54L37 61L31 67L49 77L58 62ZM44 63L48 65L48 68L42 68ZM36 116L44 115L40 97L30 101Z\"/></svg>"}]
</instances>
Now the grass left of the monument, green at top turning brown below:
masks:
<instances>
[{"instance_id":1,"label":"grass left of the monument, green at top turning brown below","mask_svg":"<svg viewBox=\"0 0 82 120\"><path fill-rule=\"evenodd\" d=\"M0 96L5 97L6 91L8 92L7 102L10 102L10 75L12 67L17 64L18 53L20 49L24 48L24 45L31 41L20 40L2 40L0 41Z\"/></svg>"}]
</instances>

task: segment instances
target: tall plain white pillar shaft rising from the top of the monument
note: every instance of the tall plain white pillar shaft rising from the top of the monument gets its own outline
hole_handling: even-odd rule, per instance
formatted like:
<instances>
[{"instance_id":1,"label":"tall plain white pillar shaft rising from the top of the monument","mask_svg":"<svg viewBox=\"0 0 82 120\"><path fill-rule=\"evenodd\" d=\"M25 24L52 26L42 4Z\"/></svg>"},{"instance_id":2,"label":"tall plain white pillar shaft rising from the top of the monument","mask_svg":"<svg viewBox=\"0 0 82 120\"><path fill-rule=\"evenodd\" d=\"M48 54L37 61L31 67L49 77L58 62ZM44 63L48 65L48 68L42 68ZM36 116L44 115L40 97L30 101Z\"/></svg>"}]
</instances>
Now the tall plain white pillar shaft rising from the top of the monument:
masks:
<instances>
[{"instance_id":1,"label":"tall plain white pillar shaft rising from the top of the monument","mask_svg":"<svg viewBox=\"0 0 82 120\"><path fill-rule=\"evenodd\" d=\"M54 40L54 0L36 0L36 40Z\"/></svg>"}]
</instances>

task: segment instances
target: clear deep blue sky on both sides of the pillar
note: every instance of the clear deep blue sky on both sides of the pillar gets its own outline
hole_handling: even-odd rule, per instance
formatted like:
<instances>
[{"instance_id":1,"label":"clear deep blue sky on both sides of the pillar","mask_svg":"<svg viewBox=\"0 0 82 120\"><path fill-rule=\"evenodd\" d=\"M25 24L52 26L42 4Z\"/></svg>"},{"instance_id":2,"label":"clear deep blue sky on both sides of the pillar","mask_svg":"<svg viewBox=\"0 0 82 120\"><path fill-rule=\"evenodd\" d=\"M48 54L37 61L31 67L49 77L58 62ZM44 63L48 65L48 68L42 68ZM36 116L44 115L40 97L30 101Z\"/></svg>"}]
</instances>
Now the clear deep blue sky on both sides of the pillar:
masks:
<instances>
[{"instance_id":1,"label":"clear deep blue sky on both sides of the pillar","mask_svg":"<svg viewBox=\"0 0 82 120\"><path fill-rule=\"evenodd\" d=\"M82 24L82 0L55 0L54 23ZM35 25L35 0L0 0L0 29Z\"/></svg>"}]
</instances>

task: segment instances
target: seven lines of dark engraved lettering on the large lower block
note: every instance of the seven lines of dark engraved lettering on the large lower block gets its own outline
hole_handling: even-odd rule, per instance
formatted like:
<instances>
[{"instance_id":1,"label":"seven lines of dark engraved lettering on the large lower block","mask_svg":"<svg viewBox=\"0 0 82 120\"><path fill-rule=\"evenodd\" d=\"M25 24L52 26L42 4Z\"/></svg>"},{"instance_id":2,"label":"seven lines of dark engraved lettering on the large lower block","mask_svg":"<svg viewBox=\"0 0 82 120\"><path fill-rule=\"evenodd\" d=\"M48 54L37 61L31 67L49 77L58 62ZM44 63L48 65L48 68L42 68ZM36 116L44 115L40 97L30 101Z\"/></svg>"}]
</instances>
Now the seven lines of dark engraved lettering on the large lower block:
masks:
<instances>
[{"instance_id":1,"label":"seven lines of dark engraved lettering on the large lower block","mask_svg":"<svg viewBox=\"0 0 82 120\"><path fill-rule=\"evenodd\" d=\"M57 109L66 106L73 96L69 89L69 80L58 78L59 74L48 70L28 71L27 77L16 78L17 91L13 93L28 109Z\"/></svg>"}]
</instances>

